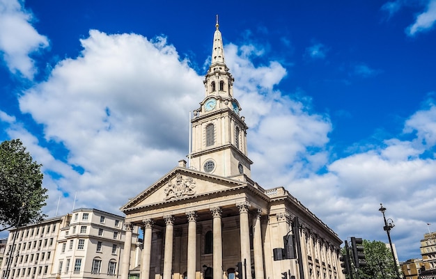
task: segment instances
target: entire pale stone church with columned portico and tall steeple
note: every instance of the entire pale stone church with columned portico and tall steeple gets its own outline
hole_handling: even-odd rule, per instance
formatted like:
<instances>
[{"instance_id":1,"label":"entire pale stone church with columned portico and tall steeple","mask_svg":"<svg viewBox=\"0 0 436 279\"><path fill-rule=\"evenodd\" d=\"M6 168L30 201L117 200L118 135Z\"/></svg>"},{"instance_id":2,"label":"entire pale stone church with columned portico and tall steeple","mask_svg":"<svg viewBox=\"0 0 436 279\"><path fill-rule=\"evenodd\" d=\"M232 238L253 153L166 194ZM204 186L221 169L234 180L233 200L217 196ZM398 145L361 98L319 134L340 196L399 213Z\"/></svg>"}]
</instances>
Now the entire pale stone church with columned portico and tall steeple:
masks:
<instances>
[{"instance_id":1,"label":"entire pale stone church with columned portico and tall steeple","mask_svg":"<svg viewBox=\"0 0 436 279\"><path fill-rule=\"evenodd\" d=\"M127 227L121 279L130 276L135 226L143 228L141 279L344 278L338 235L282 186L251 180L234 81L217 22L189 164L179 161L120 209Z\"/></svg>"}]
</instances>

